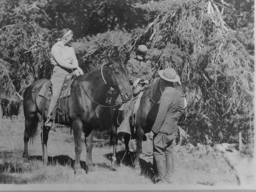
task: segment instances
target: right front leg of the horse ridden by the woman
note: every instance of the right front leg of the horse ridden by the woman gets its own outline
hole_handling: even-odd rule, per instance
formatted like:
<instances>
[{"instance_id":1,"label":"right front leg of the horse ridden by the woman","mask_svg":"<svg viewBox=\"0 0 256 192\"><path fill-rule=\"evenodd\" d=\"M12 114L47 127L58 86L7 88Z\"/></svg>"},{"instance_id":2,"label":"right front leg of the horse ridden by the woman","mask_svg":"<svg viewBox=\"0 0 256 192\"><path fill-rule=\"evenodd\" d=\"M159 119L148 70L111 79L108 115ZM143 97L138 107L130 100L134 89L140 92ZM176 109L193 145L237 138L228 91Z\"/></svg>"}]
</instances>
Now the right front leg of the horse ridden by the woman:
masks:
<instances>
[{"instance_id":1,"label":"right front leg of the horse ridden by the woman","mask_svg":"<svg viewBox=\"0 0 256 192\"><path fill-rule=\"evenodd\" d=\"M93 149L93 134L94 129L91 131L91 133L88 135L87 140L85 142L86 145L86 165L88 167L88 172L95 171L92 163L92 149Z\"/></svg>"}]
</instances>

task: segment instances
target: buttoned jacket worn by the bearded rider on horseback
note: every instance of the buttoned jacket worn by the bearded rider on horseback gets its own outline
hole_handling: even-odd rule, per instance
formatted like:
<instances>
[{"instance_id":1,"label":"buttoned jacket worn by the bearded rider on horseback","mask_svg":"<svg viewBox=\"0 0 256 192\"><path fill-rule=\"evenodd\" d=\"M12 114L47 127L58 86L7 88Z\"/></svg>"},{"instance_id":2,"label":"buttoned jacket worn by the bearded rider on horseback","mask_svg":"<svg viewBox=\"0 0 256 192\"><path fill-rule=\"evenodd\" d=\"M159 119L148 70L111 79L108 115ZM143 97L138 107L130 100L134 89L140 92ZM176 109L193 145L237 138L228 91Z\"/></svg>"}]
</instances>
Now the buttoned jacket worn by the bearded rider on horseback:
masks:
<instances>
[{"instance_id":1,"label":"buttoned jacket worn by the bearded rider on horseback","mask_svg":"<svg viewBox=\"0 0 256 192\"><path fill-rule=\"evenodd\" d=\"M152 69L150 60L139 61L136 58L130 59L127 62L128 79L132 85L137 78L142 78L144 80L150 80L152 78Z\"/></svg>"}]
</instances>

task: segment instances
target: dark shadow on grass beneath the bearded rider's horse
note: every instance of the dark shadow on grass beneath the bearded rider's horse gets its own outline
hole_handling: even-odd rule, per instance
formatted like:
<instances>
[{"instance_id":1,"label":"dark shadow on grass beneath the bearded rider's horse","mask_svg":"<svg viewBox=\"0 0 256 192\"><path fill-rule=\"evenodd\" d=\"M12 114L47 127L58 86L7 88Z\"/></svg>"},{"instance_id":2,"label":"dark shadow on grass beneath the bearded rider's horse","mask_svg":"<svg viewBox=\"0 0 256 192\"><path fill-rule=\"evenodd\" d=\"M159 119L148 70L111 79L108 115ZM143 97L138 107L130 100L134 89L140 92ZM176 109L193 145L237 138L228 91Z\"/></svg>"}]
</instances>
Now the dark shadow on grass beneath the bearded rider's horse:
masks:
<instances>
[{"instance_id":1,"label":"dark shadow on grass beneath the bearded rider's horse","mask_svg":"<svg viewBox=\"0 0 256 192\"><path fill-rule=\"evenodd\" d=\"M135 160L135 156L136 156L136 152L127 152L125 153L125 150L119 151L116 153L116 159L117 159L117 166L120 165L120 163L124 164L125 166L131 167L131 168L135 168L134 165L134 160ZM110 161L112 161L112 155L113 153L108 153L106 155L104 155L107 159L109 159ZM147 178L150 178L150 180L152 182L155 182L153 180L155 174L154 171L155 170L152 166L151 162L146 162L143 159L139 159L139 163L140 163L140 175L143 175Z\"/></svg>"}]
</instances>

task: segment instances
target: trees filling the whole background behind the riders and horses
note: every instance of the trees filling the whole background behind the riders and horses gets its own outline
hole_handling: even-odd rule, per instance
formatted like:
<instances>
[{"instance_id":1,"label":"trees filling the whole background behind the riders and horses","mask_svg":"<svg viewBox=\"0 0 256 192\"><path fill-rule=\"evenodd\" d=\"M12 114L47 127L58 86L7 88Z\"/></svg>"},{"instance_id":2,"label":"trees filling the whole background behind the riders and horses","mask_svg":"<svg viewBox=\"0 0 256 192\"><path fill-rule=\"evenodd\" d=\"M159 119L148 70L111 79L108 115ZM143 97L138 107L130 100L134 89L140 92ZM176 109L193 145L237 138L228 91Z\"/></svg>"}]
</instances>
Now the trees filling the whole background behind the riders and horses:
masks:
<instances>
[{"instance_id":1,"label":"trees filling the whole background behind the riders and horses","mask_svg":"<svg viewBox=\"0 0 256 192\"><path fill-rule=\"evenodd\" d=\"M133 57L139 44L149 49L154 78L177 69L190 142L237 143L241 131L244 144L253 143L253 0L0 0L1 98L50 77L50 48L62 28L75 32L85 72L106 54Z\"/></svg>"}]
</instances>

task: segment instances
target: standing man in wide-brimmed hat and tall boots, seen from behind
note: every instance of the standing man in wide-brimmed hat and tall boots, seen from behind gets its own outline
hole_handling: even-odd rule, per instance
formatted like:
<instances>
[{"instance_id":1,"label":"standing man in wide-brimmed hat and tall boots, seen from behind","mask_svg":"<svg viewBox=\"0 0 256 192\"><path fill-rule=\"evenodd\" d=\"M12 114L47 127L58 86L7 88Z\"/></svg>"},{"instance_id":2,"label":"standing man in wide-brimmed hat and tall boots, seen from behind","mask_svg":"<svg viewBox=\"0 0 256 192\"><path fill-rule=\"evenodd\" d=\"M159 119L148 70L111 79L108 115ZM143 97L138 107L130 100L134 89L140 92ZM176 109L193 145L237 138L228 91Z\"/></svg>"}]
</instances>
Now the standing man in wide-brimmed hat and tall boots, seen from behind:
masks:
<instances>
[{"instance_id":1,"label":"standing man in wide-brimmed hat and tall boots, seen from behind","mask_svg":"<svg viewBox=\"0 0 256 192\"><path fill-rule=\"evenodd\" d=\"M158 171L158 183L171 183L173 173L173 138L177 132L177 122L184 113L184 99L174 88L173 82L180 77L173 68L159 70L164 91L160 98L155 123L148 137L153 140L153 155Z\"/></svg>"}]
</instances>

